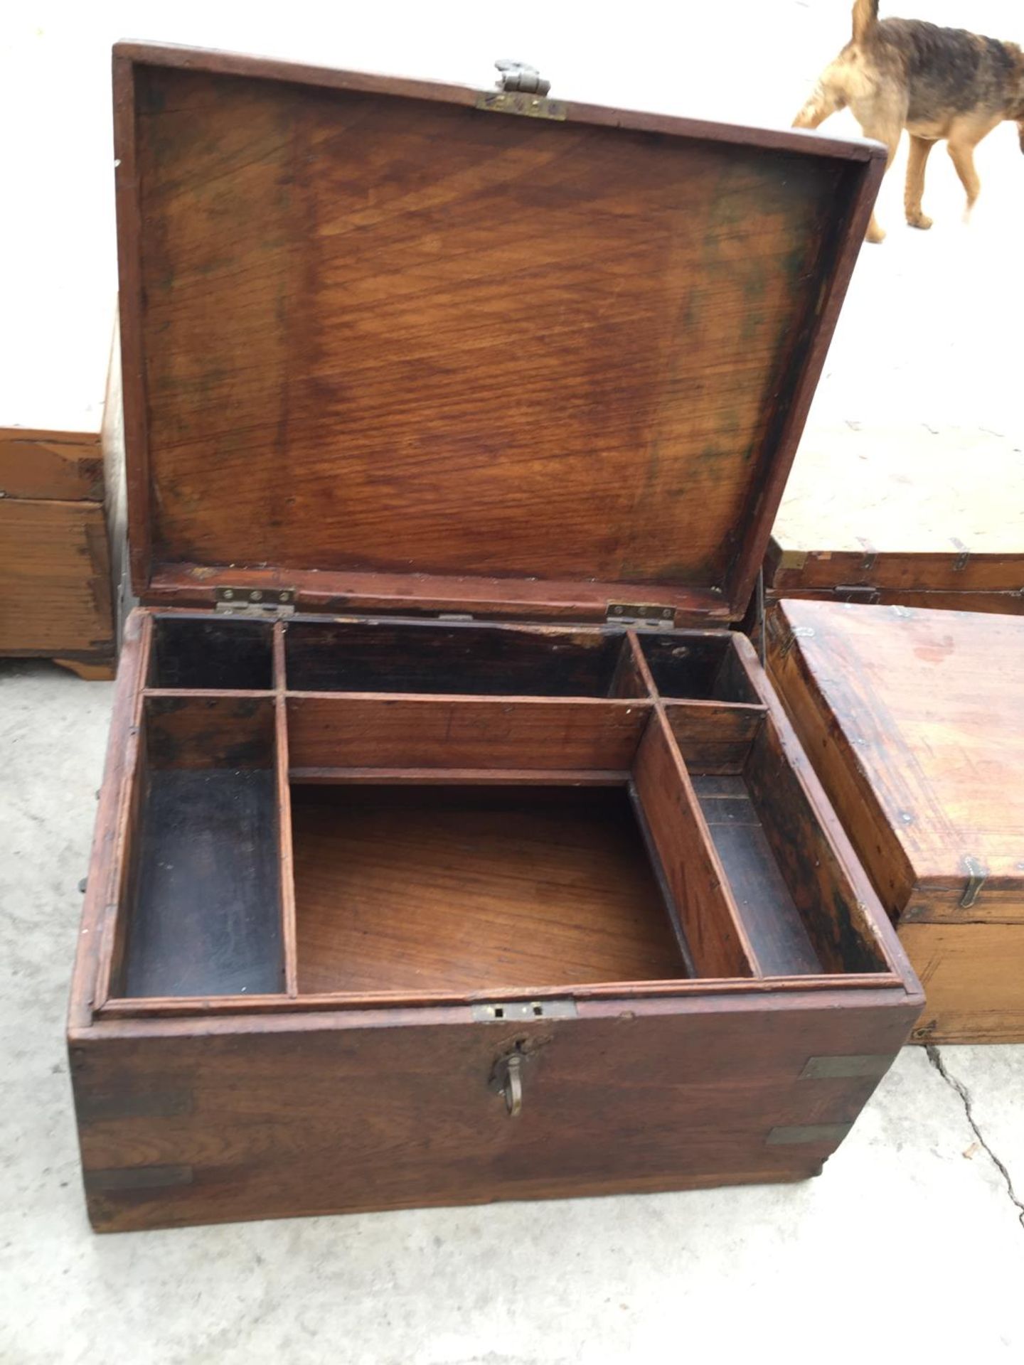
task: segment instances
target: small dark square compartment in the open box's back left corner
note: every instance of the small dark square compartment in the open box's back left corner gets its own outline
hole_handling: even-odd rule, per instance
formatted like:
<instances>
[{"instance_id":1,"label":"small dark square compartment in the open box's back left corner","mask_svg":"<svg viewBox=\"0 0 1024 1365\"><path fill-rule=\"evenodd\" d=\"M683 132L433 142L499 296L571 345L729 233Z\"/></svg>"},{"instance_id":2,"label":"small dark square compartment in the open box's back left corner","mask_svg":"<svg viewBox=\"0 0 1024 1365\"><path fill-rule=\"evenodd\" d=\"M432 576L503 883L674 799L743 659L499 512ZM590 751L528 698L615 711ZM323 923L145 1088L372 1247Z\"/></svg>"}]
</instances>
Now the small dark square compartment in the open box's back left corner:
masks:
<instances>
[{"instance_id":1,"label":"small dark square compartment in the open box's back left corner","mask_svg":"<svg viewBox=\"0 0 1024 1365\"><path fill-rule=\"evenodd\" d=\"M209 613L157 616L149 685L266 691L273 687L273 625Z\"/></svg>"}]
</instances>

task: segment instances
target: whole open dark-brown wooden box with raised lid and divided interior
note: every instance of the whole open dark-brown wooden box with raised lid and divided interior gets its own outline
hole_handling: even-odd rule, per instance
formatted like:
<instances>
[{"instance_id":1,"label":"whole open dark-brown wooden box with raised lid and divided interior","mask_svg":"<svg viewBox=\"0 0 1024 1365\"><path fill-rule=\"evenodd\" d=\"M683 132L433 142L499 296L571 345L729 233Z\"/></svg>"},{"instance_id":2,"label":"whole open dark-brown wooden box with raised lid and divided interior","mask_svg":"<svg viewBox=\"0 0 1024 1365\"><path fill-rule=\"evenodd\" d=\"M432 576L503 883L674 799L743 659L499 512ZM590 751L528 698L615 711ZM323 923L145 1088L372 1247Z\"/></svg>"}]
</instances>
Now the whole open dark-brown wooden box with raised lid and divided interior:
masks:
<instances>
[{"instance_id":1,"label":"whole open dark-brown wooden box with raised lid and divided interior","mask_svg":"<svg viewBox=\"0 0 1024 1365\"><path fill-rule=\"evenodd\" d=\"M94 1226L815 1174L922 996L728 627L878 149L147 46L115 90Z\"/></svg>"}]
</instances>

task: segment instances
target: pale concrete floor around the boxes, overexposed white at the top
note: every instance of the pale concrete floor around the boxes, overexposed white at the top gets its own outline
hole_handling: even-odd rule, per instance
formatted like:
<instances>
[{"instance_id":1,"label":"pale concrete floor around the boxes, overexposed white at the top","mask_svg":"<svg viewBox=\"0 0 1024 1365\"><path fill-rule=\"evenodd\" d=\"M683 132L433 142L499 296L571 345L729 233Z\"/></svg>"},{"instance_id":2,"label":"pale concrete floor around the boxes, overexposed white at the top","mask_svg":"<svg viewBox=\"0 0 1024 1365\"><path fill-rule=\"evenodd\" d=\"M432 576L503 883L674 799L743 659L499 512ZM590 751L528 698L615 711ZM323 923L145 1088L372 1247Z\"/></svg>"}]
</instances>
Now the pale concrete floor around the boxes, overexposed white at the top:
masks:
<instances>
[{"instance_id":1,"label":"pale concrete floor around the boxes, overexposed white at the top","mask_svg":"<svg viewBox=\"0 0 1024 1365\"><path fill-rule=\"evenodd\" d=\"M0 374L33 354L30 367L68 373L82 332L53 317L86 318L115 288L113 38L477 85L512 53L556 76L560 96L778 123L848 33L838 0L696 8L452 0L356 14L292 0L285 25L269 0L12 0L0 19L0 101L12 112L0 124L31 130L5 173L35 210L0 224L16 263L4 288L20 285L25 300L23 325L0 336L11 351ZM1014 0L927 11L997 34L1019 20ZM969 229L943 157L930 169L927 236L901 227L898 179L886 183L890 238L857 266L808 437L900 427L924 475L950 427L1024 448L1019 345L1004 322L1024 209L1012 130L979 165ZM801 1186L94 1237L63 1022L111 696L49 665L0 662L3 1365L1024 1355L1024 1047L904 1051L825 1174Z\"/></svg>"}]
</instances>

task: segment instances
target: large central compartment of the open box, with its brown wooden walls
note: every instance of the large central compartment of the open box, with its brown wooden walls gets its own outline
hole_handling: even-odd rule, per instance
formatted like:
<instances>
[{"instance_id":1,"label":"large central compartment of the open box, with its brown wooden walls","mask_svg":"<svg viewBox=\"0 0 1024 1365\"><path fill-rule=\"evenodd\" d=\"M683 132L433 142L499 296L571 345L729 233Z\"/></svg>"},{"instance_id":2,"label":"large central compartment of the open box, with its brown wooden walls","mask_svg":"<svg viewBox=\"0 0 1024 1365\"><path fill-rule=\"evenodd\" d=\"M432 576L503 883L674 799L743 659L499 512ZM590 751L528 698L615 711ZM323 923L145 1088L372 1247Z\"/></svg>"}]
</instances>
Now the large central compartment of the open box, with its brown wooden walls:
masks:
<instances>
[{"instance_id":1,"label":"large central compartment of the open box, with its brown wooden walls","mask_svg":"<svg viewBox=\"0 0 1024 1365\"><path fill-rule=\"evenodd\" d=\"M511 730L489 733L486 699L425 698L419 725L400 710L406 740L382 744L366 773L321 766L336 762L339 733L366 743L359 699L289 704L300 994L752 975L651 707L515 702ZM314 725L310 704L324 713ZM485 714L467 723L460 707ZM407 767L416 732L440 729L451 741L433 753L433 777Z\"/></svg>"}]
</instances>

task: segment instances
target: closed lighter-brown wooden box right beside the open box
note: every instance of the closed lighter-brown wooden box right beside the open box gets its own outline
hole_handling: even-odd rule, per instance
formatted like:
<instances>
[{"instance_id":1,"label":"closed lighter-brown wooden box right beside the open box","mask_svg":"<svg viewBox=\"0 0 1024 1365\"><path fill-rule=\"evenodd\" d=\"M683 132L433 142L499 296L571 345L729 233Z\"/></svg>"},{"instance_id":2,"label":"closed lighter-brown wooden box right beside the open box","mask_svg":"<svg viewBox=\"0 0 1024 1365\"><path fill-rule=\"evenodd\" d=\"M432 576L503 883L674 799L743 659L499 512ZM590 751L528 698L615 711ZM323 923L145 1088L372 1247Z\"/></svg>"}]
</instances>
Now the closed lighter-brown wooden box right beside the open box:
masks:
<instances>
[{"instance_id":1,"label":"closed lighter-brown wooden box right beside the open box","mask_svg":"<svg viewBox=\"0 0 1024 1365\"><path fill-rule=\"evenodd\" d=\"M1024 620L797 601L767 636L924 986L913 1037L1024 1041Z\"/></svg>"}]
</instances>

